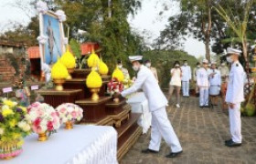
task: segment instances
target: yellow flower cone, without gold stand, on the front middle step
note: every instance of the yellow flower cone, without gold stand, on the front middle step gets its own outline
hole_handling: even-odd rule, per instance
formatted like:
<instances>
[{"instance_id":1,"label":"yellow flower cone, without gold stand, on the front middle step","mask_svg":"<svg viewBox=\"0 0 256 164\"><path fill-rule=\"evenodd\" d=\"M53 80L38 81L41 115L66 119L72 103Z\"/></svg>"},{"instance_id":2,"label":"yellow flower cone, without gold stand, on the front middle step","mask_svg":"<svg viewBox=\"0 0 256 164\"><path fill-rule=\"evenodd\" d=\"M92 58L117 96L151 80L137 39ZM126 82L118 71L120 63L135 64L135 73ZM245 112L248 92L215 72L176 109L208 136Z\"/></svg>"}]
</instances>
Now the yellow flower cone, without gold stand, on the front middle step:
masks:
<instances>
[{"instance_id":1,"label":"yellow flower cone, without gold stand, on the front middle step","mask_svg":"<svg viewBox=\"0 0 256 164\"><path fill-rule=\"evenodd\" d=\"M86 86L89 88L99 88L102 86L102 79L98 72L96 72L95 68L91 69L91 73L88 75L86 79Z\"/></svg>"}]
</instances>

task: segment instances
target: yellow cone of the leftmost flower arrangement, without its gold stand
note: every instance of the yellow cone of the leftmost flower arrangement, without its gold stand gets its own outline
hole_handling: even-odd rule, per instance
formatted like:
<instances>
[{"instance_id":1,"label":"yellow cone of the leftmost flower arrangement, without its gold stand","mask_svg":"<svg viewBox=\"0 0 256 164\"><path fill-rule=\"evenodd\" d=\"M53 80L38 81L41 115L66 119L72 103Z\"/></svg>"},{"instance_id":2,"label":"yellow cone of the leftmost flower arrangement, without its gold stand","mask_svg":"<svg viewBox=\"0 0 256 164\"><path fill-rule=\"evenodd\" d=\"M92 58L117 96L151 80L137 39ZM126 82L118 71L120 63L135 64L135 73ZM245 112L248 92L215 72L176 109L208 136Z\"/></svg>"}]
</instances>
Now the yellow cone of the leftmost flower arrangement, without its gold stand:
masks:
<instances>
[{"instance_id":1,"label":"yellow cone of the leftmost flower arrangement, without its gold stand","mask_svg":"<svg viewBox=\"0 0 256 164\"><path fill-rule=\"evenodd\" d=\"M53 79L62 79L67 78L69 76L69 72L67 67L65 67L60 60L58 60L53 67L51 68L51 77Z\"/></svg>"}]
</instances>

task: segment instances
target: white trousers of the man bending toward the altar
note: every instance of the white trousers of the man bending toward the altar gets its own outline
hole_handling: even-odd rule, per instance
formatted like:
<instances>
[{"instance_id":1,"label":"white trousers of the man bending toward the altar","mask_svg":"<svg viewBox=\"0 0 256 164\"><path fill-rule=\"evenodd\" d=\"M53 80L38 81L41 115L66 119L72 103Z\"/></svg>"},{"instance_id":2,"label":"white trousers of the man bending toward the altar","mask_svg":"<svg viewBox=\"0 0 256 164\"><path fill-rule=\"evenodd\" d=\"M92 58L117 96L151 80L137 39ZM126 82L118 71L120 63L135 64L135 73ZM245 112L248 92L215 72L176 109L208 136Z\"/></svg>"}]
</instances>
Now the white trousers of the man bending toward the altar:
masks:
<instances>
[{"instance_id":1,"label":"white trousers of the man bending toward the altar","mask_svg":"<svg viewBox=\"0 0 256 164\"><path fill-rule=\"evenodd\" d=\"M152 112L151 127L151 140L148 147L149 149L159 151L163 137L167 145L171 148L172 152L178 152L182 150L179 140L176 137L174 128L167 118L165 107L159 108L158 110Z\"/></svg>"}]
</instances>

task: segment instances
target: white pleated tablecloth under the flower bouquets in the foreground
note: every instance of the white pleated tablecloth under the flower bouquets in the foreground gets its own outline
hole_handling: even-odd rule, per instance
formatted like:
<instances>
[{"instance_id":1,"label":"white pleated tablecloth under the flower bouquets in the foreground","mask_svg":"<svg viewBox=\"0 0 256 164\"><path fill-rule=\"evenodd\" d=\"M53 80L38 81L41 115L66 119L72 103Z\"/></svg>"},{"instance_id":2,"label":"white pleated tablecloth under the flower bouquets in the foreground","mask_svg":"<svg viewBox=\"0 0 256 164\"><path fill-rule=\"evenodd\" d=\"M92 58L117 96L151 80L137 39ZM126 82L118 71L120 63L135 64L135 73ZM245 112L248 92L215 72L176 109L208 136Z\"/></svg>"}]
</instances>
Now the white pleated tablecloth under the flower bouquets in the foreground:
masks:
<instances>
[{"instance_id":1,"label":"white pleated tablecloth under the flower bouquets in the foreground","mask_svg":"<svg viewBox=\"0 0 256 164\"><path fill-rule=\"evenodd\" d=\"M3 164L117 164L117 132L112 127L74 126L59 129L45 142L28 136L23 152Z\"/></svg>"}]
</instances>

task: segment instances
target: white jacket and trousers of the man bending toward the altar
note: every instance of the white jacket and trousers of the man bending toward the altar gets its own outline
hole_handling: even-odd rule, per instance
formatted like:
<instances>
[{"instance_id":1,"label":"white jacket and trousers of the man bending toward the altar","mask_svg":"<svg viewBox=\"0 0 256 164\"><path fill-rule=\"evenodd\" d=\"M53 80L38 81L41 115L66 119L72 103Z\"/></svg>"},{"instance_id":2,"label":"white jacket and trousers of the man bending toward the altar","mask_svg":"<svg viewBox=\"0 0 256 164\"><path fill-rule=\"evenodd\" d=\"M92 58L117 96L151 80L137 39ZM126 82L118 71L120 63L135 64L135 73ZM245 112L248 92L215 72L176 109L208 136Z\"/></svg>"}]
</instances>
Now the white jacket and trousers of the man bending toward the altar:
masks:
<instances>
[{"instance_id":1,"label":"white jacket and trousers of the man bending toward the altar","mask_svg":"<svg viewBox=\"0 0 256 164\"><path fill-rule=\"evenodd\" d=\"M144 95L148 100L149 109L152 112L152 130L149 149L158 151L163 137L165 142L172 149L172 152L181 151L182 148L179 140L176 137L176 133L169 119L167 118L165 110L167 99L159 87L152 71L144 66L140 67L137 79L133 86L124 90L121 95L126 97L140 88L143 89Z\"/></svg>"}]
</instances>

